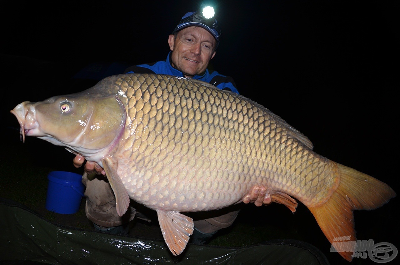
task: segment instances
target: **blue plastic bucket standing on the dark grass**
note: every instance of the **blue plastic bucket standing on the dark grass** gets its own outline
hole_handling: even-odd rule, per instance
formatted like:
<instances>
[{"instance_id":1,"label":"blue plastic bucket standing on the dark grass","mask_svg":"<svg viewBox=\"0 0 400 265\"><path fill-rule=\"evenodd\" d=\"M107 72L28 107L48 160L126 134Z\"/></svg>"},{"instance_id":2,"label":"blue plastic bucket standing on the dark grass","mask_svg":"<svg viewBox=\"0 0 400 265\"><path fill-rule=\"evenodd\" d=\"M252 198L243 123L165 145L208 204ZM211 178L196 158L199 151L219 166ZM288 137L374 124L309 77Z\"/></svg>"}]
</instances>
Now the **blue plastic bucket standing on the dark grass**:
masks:
<instances>
[{"instance_id":1,"label":"blue plastic bucket standing on the dark grass","mask_svg":"<svg viewBox=\"0 0 400 265\"><path fill-rule=\"evenodd\" d=\"M85 186L82 175L67 171L52 171L47 175L46 209L54 213L72 214L79 211Z\"/></svg>"}]
</instances>

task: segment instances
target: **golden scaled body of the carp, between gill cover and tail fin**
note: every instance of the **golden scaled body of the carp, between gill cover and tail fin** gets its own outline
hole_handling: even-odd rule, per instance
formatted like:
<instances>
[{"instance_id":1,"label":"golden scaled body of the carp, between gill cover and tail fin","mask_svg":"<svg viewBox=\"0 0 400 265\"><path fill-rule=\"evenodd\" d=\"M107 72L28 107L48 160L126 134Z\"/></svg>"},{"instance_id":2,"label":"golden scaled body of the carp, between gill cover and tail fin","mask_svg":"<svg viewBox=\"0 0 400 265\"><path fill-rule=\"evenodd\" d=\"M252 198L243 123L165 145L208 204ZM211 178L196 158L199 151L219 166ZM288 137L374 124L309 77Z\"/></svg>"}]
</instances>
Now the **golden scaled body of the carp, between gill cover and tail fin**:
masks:
<instances>
[{"instance_id":1,"label":"golden scaled body of the carp, between gill cover and tail fin","mask_svg":"<svg viewBox=\"0 0 400 265\"><path fill-rule=\"evenodd\" d=\"M253 185L313 203L334 181L321 181L332 167L328 159L289 138L287 127L254 102L184 78L117 82L127 112L118 174L148 207L219 209L241 201Z\"/></svg>"}]
</instances>

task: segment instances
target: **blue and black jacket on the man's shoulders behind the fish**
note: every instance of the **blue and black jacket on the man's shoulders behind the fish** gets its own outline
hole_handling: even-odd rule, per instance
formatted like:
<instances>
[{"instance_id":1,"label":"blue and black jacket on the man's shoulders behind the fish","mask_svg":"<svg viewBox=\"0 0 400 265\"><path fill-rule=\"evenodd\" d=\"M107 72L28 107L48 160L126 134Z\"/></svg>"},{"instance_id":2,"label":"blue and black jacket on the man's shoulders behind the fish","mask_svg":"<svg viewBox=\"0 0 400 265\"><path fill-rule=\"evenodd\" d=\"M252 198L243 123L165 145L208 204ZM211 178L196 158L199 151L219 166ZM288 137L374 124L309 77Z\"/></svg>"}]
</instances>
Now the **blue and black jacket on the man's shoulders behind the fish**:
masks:
<instances>
[{"instance_id":1,"label":"blue and black jacket on the man's shoulders behind the fish","mask_svg":"<svg viewBox=\"0 0 400 265\"><path fill-rule=\"evenodd\" d=\"M139 64L134 65L126 68L125 74L128 73L140 73L140 74L169 74L172 76L184 76L184 74L172 67L171 65L171 52L168 53L166 60L153 62L150 64ZM193 79L201 80L204 82L208 82L213 86L218 87L219 89L223 90L230 90L239 94L238 90L236 89L236 84L232 77L224 76L217 71L212 71L211 73L206 69L206 71L202 75L195 75Z\"/></svg>"}]
</instances>

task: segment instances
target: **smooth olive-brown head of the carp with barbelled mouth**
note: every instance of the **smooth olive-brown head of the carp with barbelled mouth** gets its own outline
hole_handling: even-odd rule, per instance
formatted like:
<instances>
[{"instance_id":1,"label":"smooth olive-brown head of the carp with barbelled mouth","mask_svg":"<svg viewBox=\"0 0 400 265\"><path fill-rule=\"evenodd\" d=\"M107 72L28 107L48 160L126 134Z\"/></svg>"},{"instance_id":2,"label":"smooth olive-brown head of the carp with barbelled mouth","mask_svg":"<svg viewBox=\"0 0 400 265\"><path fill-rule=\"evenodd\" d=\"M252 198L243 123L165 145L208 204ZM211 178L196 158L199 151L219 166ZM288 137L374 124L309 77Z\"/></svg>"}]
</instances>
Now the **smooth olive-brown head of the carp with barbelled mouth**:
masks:
<instances>
[{"instance_id":1,"label":"smooth olive-brown head of the carp with barbelled mouth","mask_svg":"<svg viewBox=\"0 0 400 265\"><path fill-rule=\"evenodd\" d=\"M84 157L107 155L122 134L126 112L115 95L83 91L53 96L44 101L25 101L11 113L25 136L61 145Z\"/></svg>"}]
</instances>

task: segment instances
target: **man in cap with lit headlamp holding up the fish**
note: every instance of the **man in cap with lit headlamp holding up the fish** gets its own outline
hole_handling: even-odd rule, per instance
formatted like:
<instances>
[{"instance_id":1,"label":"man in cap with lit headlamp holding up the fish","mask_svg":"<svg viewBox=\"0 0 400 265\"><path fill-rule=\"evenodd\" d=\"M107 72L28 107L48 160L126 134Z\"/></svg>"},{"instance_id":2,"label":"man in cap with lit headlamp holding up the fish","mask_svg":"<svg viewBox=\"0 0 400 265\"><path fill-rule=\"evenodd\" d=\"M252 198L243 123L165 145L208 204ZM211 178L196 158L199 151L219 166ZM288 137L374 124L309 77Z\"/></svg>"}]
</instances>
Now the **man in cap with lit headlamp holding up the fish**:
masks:
<instances>
[{"instance_id":1,"label":"man in cap with lit headlamp holding up the fish","mask_svg":"<svg viewBox=\"0 0 400 265\"><path fill-rule=\"evenodd\" d=\"M216 71L209 72L207 66L216 54L220 41L220 30L215 19L206 19L200 12L189 12L178 23L172 34L168 37L170 52L165 61L152 64L131 66L126 73L156 73L173 76L184 76L208 82L220 89L238 93L234 80ZM84 158L77 155L74 165L80 167ZM84 175L82 182L86 185L86 215L94 223L96 230L108 233L127 234L128 222L134 216L146 219L135 208L122 217L116 213L115 197L110 185L104 177L104 170L97 164L88 161L85 172L96 172L100 177L88 179ZM265 187L254 187L250 194L244 197L244 203L254 202L255 205L267 205L271 198L266 193ZM240 205L234 205L218 211L207 213L193 213L194 233L192 243L206 243L218 230L232 225L236 219Z\"/></svg>"}]
</instances>

